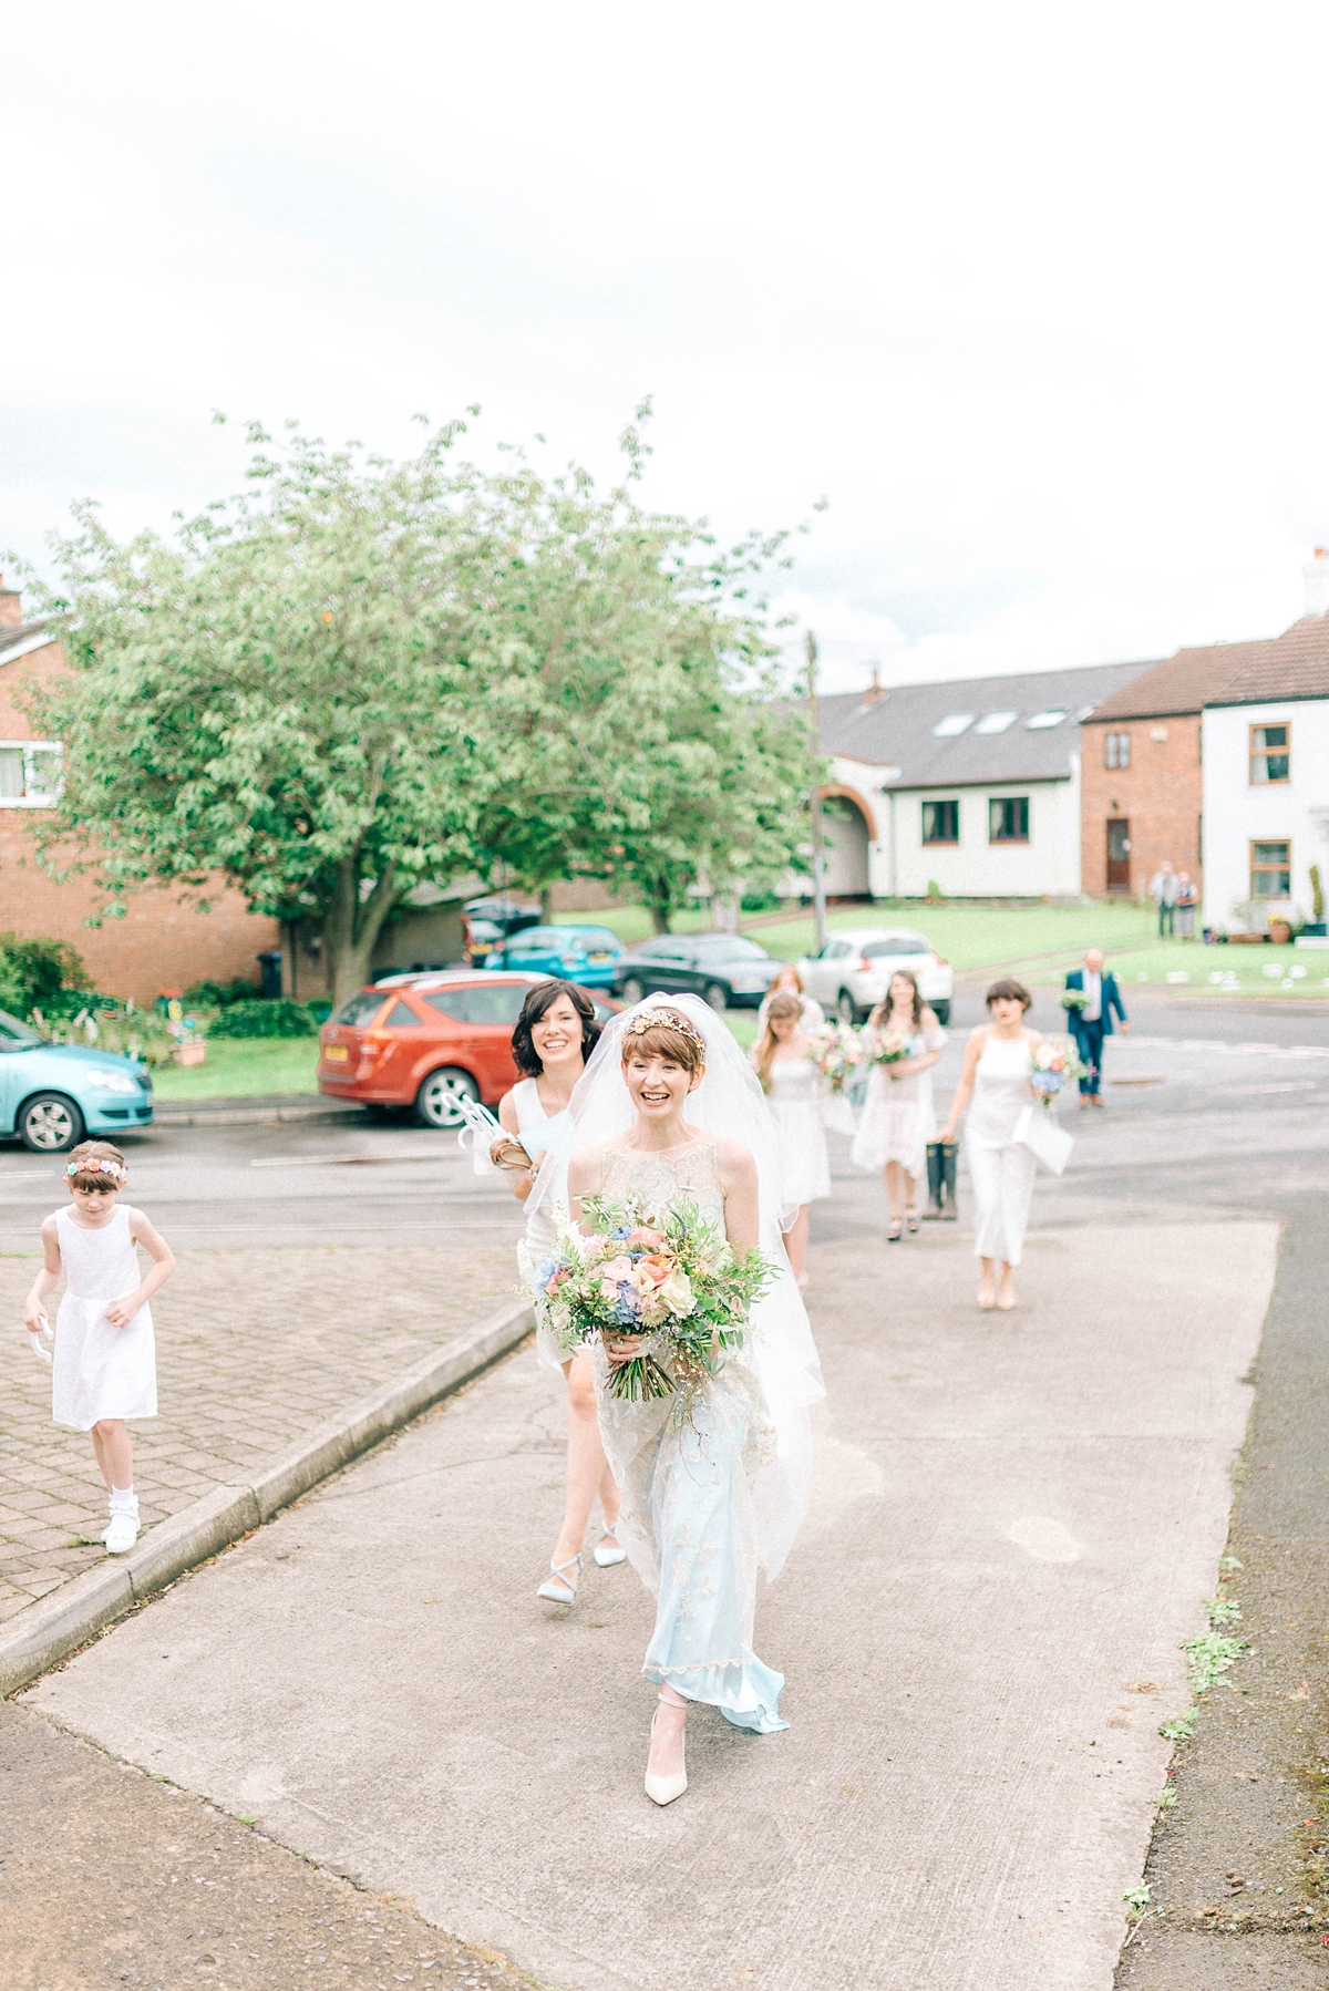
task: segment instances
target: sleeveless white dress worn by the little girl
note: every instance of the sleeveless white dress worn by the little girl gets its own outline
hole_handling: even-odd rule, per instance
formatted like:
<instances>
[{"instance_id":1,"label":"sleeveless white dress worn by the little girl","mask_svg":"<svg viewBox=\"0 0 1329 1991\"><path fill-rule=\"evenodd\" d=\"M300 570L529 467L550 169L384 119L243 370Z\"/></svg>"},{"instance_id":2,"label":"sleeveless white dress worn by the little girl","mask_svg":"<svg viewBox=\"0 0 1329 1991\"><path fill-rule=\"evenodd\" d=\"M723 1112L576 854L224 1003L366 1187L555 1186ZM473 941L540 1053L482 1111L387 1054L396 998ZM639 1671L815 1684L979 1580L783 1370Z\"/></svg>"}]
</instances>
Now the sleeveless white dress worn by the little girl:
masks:
<instances>
[{"instance_id":1,"label":"sleeveless white dress worn by the little girl","mask_svg":"<svg viewBox=\"0 0 1329 1991\"><path fill-rule=\"evenodd\" d=\"M151 1308L139 1306L126 1328L106 1318L141 1280L122 1203L102 1230L88 1230L70 1211L56 1213L60 1262L68 1280L56 1314L52 1422L90 1432L100 1418L157 1416L157 1350Z\"/></svg>"}]
</instances>

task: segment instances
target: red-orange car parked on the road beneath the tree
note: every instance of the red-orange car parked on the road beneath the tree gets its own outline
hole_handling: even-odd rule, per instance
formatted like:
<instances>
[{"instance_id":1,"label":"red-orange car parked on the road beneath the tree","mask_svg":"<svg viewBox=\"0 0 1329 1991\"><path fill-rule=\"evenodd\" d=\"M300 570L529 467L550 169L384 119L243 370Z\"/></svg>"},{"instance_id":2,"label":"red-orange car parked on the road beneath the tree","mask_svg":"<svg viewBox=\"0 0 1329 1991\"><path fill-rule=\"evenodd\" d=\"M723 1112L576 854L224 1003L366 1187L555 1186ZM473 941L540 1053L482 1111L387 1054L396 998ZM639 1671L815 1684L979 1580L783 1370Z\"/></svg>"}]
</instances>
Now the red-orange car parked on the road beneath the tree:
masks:
<instances>
[{"instance_id":1,"label":"red-orange car parked on the road beneath the tree","mask_svg":"<svg viewBox=\"0 0 1329 1991\"><path fill-rule=\"evenodd\" d=\"M458 1093L492 1107L516 1085L512 1025L536 982L548 976L456 968L359 990L319 1031L319 1091L458 1127ZM588 994L608 1021L616 1003Z\"/></svg>"}]
</instances>

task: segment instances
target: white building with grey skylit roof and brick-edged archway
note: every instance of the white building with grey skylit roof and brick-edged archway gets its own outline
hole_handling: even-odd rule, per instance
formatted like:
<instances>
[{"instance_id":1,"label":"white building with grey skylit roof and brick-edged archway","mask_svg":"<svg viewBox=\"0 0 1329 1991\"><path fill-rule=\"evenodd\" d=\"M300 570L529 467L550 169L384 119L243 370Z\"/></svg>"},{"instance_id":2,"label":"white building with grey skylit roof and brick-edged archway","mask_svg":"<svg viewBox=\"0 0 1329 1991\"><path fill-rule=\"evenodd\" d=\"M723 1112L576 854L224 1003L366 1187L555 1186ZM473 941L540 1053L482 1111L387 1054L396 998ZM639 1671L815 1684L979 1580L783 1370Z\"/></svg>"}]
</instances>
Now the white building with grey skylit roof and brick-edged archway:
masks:
<instances>
[{"instance_id":1,"label":"white building with grey skylit roof and brick-edged archway","mask_svg":"<svg viewBox=\"0 0 1329 1991\"><path fill-rule=\"evenodd\" d=\"M1080 721L1146 663L821 699L827 894L1080 890Z\"/></svg>"}]
</instances>

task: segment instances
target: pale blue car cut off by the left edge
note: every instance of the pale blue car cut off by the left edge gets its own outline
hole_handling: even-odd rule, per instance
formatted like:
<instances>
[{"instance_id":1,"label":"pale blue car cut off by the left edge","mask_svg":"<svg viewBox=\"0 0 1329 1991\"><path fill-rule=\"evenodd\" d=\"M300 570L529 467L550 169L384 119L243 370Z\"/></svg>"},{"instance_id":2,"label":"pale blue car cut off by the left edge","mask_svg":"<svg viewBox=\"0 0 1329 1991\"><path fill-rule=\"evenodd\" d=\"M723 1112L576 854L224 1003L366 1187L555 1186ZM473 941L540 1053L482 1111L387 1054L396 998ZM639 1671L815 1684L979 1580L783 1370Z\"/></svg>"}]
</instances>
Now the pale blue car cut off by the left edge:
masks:
<instances>
[{"instance_id":1,"label":"pale blue car cut off by the left edge","mask_svg":"<svg viewBox=\"0 0 1329 1991\"><path fill-rule=\"evenodd\" d=\"M0 1135L64 1155L88 1135L151 1127L147 1065L96 1045L52 1043L0 1011Z\"/></svg>"}]
</instances>

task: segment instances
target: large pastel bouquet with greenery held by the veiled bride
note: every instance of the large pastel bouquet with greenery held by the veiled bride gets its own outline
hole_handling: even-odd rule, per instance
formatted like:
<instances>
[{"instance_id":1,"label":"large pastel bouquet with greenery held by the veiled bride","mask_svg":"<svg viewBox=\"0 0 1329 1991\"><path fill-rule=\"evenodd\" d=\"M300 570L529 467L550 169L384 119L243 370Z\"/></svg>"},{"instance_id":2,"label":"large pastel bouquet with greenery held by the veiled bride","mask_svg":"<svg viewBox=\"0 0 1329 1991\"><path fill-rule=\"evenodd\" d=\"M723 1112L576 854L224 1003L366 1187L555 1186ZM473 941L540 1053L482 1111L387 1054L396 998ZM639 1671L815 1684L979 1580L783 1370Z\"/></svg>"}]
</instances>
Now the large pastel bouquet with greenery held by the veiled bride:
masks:
<instances>
[{"instance_id":1,"label":"large pastel bouquet with greenery held by the veiled bride","mask_svg":"<svg viewBox=\"0 0 1329 1991\"><path fill-rule=\"evenodd\" d=\"M554 1256L536 1274L564 1354L596 1338L646 1336L642 1350L610 1372L610 1396L630 1404L717 1374L743 1346L747 1312L775 1272L771 1260L759 1250L735 1252L691 1203L658 1215L636 1197L584 1197L582 1209L596 1234L584 1236L564 1213Z\"/></svg>"}]
</instances>

